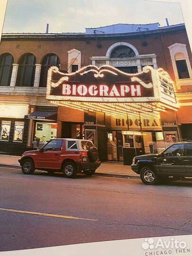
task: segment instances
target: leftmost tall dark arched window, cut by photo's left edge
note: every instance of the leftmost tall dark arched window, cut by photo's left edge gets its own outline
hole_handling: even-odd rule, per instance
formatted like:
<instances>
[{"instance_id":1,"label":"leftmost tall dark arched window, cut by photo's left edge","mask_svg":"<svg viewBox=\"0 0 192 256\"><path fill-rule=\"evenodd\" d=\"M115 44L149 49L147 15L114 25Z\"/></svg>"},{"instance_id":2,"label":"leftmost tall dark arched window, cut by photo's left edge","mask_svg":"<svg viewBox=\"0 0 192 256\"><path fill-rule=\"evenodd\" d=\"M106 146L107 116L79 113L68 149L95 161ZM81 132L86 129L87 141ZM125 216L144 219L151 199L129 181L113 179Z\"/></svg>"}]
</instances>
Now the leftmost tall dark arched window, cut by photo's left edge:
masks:
<instances>
[{"instance_id":1,"label":"leftmost tall dark arched window, cut by photo's left edge","mask_svg":"<svg viewBox=\"0 0 192 256\"><path fill-rule=\"evenodd\" d=\"M13 69L13 56L5 53L0 55L0 86L9 86Z\"/></svg>"}]
</instances>

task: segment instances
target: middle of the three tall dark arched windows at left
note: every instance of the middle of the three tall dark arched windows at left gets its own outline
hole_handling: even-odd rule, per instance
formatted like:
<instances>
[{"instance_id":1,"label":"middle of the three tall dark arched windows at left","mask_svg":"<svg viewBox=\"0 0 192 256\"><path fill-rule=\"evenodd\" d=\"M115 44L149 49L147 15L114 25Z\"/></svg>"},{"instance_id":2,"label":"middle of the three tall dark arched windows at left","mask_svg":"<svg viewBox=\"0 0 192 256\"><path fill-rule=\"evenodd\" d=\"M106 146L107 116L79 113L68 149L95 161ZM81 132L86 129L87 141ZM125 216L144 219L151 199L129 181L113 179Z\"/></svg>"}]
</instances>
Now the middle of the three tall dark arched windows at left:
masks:
<instances>
[{"instance_id":1,"label":"middle of the three tall dark arched windows at left","mask_svg":"<svg viewBox=\"0 0 192 256\"><path fill-rule=\"evenodd\" d=\"M23 55L18 63L16 86L32 87L34 85L36 57L33 54Z\"/></svg>"}]
</instances>

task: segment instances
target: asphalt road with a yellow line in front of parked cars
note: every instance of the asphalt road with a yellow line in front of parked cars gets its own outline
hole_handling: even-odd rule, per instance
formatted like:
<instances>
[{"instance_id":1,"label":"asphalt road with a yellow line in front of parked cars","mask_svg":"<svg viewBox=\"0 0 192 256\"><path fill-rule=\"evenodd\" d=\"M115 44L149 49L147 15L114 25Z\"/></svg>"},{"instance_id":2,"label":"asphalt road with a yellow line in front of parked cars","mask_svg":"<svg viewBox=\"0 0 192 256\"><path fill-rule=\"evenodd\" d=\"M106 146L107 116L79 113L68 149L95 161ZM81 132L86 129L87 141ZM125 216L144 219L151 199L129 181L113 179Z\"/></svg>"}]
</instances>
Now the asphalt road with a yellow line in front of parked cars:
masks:
<instances>
[{"instance_id":1,"label":"asphalt road with a yellow line in front of parked cars","mask_svg":"<svg viewBox=\"0 0 192 256\"><path fill-rule=\"evenodd\" d=\"M192 234L191 185L0 167L0 250Z\"/></svg>"}]
</instances>

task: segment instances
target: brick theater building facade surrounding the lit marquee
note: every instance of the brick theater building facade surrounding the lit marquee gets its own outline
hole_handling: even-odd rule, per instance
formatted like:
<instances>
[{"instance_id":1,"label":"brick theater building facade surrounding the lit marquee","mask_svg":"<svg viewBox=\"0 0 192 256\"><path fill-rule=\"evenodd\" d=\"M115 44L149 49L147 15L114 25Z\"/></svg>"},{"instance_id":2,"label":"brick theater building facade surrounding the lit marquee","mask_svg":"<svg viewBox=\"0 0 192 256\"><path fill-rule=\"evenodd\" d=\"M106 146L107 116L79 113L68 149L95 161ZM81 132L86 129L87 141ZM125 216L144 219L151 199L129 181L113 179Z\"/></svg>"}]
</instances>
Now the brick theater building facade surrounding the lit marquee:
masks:
<instances>
[{"instance_id":1,"label":"brick theater building facade surrounding the lit marquee","mask_svg":"<svg viewBox=\"0 0 192 256\"><path fill-rule=\"evenodd\" d=\"M43 145L51 137L66 135L66 130L71 137L84 133L82 111L63 106L57 108L46 100L46 74L52 65L68 73L90 64L107 64L126 73L140 73L146 65L164 69L174 81L179 104L175 112L178 140L192 139L192 53L184 24L168 27L159 27L158 23L117 24L88 28L85 33L3 34L1 40L0 152L20 154L35 146L36 137L41 137ZM19 114L13 113L14 110ZM34 118L27 116L30 113L34 113ZM50 113L50 118L46 113ZM37 119L37 115L41 119ZM104 141L107 136L114 140L113 132L116 131L116 140L119 137L121 144L125 144L124 137L119 134L122 127L110 127L107 131L106 117L99 118L100 113L96 115L100 119L97 140L99 134L106 137ZM9 129L7 137L2 137L4 128ZM44 129L46 134L43 134ZM91 126L87 129L94 130ZM173 131L173 128L167 130ZM158 128L158 132L162 132L162 128ZM19 133L22 135L16 138ZM117 143L116 146L118 148ZM148 146L145 148L148 153ZM118 154L114 160L122 160ZM108 160L113 159L109 156Z\"/></svg>"}]
</instances>

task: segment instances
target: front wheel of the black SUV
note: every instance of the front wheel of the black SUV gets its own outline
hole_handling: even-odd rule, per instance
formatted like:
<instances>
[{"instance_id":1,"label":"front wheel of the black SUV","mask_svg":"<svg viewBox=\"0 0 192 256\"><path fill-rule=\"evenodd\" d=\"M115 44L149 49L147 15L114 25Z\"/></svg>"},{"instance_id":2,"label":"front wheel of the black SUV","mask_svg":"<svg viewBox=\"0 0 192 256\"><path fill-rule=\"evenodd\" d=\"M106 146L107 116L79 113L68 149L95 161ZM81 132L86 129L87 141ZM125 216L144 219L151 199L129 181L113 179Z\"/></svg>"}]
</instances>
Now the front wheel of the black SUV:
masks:
<instances>
[{"instance_id":1,"label":"front wheel of the black SUV","mask_svg":"<svg viewBox=\"0 0 192 256\"><path fill-rule=\"evenodd\" d=\"M141 169L140 178L146 185L154 185L157 183L157 174L150 166L145 166Z\"/></svg>"}]
</instances>

